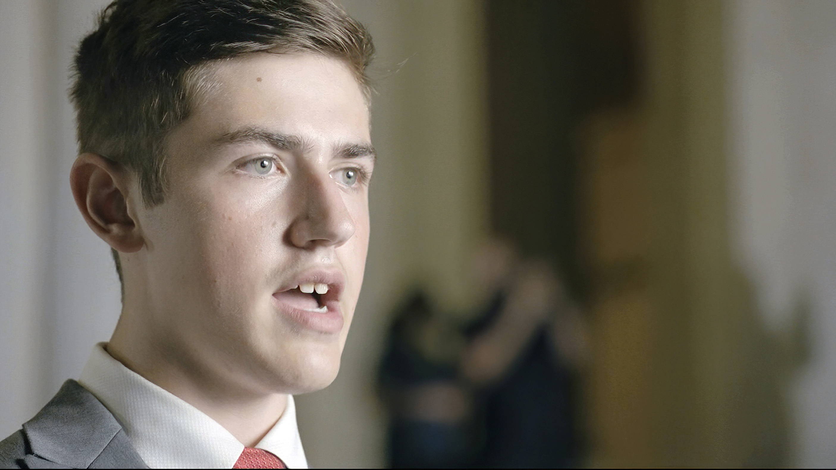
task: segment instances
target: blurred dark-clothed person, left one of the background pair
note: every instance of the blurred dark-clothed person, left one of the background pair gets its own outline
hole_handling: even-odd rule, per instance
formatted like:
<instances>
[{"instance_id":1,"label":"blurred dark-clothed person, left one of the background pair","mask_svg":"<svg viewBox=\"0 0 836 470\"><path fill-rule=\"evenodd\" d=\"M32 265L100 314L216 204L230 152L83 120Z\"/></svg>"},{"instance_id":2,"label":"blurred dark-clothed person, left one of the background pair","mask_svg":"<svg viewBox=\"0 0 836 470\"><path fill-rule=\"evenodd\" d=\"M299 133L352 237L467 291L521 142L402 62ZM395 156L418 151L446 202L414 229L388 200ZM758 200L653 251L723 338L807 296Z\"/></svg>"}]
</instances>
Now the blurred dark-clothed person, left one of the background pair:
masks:
<instances>
[{"instance_id":1,"label":"blurred dark-clothed person, left one of the background pair","mask_svg":"<svg viewBox=\"0 0 836 470\"><path fill-rule=\"evenodd\" d=\"M472 448L470 399L458 379L463 341L416 290L395 311L380 364L390 412L390 467L461 467Z\"/></svg>"}]
</instances>

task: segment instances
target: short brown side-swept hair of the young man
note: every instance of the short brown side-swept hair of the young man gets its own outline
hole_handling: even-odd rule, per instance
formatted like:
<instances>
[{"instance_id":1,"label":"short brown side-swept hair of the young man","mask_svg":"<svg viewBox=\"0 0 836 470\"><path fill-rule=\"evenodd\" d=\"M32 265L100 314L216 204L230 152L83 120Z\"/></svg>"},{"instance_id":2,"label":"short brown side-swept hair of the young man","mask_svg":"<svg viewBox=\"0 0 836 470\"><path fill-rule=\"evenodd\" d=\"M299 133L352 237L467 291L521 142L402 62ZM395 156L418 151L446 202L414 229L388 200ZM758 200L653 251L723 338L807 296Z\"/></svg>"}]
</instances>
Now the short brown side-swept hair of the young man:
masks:
<instances>
[{"instance_id":1,"label":"short brown side-swept hair of the young man","mask_svg":"<svg viewBox=\"0 0 836 470\"><path fill-rule=\"evenodd\" d=\"M163 142L206 88L206 65L256 52L342 59L370 97L370 34L331 0L115 0L75 55L79 153L133 170L145 205L160 204Z\"/></svg>"}]
</instances>

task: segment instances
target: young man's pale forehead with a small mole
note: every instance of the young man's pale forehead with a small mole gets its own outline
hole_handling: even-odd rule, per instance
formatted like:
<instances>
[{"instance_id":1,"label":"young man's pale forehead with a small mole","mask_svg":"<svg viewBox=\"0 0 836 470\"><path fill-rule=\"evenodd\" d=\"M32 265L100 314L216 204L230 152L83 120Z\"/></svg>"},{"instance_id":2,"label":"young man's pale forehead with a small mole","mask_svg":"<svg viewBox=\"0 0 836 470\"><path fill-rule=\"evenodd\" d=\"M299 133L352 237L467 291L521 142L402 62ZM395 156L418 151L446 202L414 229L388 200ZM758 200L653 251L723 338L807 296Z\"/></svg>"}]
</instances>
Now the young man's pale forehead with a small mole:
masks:
<instances>
[{"instance_id":1,"label":"young man's pale forehead with a small mole","mask_svg":"<svg viewBox=\"0 0 836 470\"><path fill-rule=\"evenodd\" d=\"M314 53L251 53L212 63L184 127L211 138L272 129L312 142L369 143L369 108L342 60Z\"/></svg>"}]
</instances>

